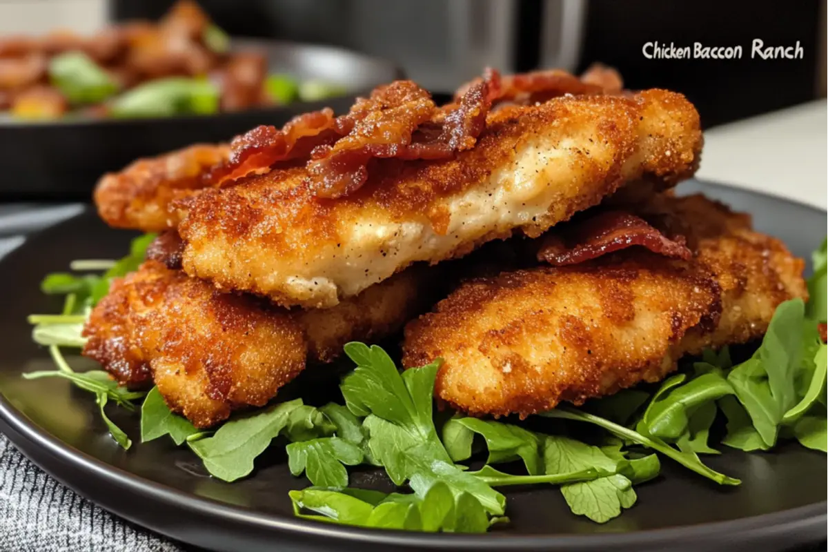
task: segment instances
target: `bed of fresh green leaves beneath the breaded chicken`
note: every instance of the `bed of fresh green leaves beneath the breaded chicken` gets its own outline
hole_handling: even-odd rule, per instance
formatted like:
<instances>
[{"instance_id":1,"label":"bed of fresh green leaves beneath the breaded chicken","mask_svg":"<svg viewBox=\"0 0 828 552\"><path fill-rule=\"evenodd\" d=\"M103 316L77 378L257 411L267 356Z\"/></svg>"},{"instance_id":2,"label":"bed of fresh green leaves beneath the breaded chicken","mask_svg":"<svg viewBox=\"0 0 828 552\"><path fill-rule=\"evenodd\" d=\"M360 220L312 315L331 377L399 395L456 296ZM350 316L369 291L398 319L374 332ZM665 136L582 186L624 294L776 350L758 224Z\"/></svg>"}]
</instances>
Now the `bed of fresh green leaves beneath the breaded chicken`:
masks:
<instances>
[{"instance_id":1,"label":"bed of fresh green leaves beneath the breaded chicken","mask_svg":"<svg viewBox=\"0 0 828 552\"><path fill-rule=\"evenodd\" d=\"M63 377L94 393L103 421L124 449L132 442L105 407L111 402L140 410L142 442L166 437L189 447L209 473L227 482L248 477L272 444L287 443L291 473L304 473L313 485L290 492L296 516L352 526L483 532L508 522L501 487L555 485L574 514L603 523L633 506L635 486L656 478L663 459L721 485L739 485L739 479L706 466L700 455L719 454L721 447L768 450L792 439L828 453L828 344L817 329L818 322L828 321L828 238L813 254L811 300L779 305L753 356L734 364L727 348L707 351L653 392L636 388L582 408L560 406L541 415L555 419L544 423L549 433L434 412L439 359L400 372L382 348L363 343L345 346L355 368L341 381L339 404L282 402L233 415L209 431L173 414L156 388L128 391L106 372L75 372L60 348L83 346L89 310L113 278L137 268L152 238L137 238L117 262L77 261L73 272L46 276L42 290L65 295L63 313L33 314L29 321L57 370L23 377ZM713 443L717 419L726 428ZM594 431L585 431L587 425ZM485 451L484 466L471 471L468 461ZM494 467L513 468L516 462L522 463L520 473ZM348 487L347 467L360 464L384 468L399 492Z\"/></svg>"}]
</instances>

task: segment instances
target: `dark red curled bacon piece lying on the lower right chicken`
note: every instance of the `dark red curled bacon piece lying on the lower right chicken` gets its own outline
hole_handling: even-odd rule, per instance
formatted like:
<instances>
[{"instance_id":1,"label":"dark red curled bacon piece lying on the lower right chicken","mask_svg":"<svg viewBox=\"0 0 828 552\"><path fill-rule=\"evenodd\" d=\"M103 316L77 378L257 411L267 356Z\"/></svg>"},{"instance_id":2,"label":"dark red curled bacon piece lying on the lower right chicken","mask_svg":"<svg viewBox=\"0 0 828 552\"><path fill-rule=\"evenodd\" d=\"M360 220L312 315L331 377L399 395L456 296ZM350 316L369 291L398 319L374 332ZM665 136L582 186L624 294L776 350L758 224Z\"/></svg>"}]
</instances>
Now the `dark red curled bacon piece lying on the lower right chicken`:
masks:
<instances>
[{"instance_id":1,"label":"dark red curled bacon piece lying on the lower right chicken","mask_svg":"<svg viewBox=\"0 0 828 552\"><path fill-rule=\"evenodd\" d=\"M635 245L666 257L689 260L693 256L683 236L667 238L643 218L623 211L605 211L567 226L544 238L538 261L574 265Z\"/></svg>"}]
</instances>

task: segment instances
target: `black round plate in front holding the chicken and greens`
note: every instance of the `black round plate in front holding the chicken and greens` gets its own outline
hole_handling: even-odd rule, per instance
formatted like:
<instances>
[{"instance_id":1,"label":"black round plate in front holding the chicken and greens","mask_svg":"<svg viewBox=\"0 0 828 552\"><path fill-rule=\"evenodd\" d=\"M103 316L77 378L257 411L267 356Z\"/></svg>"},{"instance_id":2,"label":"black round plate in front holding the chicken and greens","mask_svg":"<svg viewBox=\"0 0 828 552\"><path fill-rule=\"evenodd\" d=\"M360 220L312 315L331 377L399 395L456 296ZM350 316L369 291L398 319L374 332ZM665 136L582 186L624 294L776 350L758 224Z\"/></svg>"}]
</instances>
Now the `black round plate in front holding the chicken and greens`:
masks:
<instances>
[{"instance_id":1,"label":"black round plate in front holding the chicken and greens","mask_svg":"<svg viewBox=\"0 0 828 552\"><path fill-rule=\"evenodd\" d=\"M714 185L680 187L682 193L699 189L753 213L759 230L782 238L799 256L808 256L828 233L828 218L816 209ZM37 290L41 276L73 258L118 257L128 238L88 212L38 234L0 262L6 293L0 430L55 478L142 526L216 550L781 550L828 539L828 455L796 444L772 454L725 449L707 457L713 468L744 480L737 488L717 487L665 461L661 478L636 488L638 504L604 526L573 516L553 487L510 490L511 526L474 536L298 520L287 492L308 482L291 477L278 450L260 458L253 477L232 484L207 477L193 454L167 439L136 442L124 452L108 437L89 394L62 380L30 382L20 374L51 369L25 322L28 313L60 308ZM314 387L306 386L303 396ZM137 441L137 417L116 409L113 415ZM352 482L388 488L377 471L355 473Z\"/></svg>"}]
</instances>

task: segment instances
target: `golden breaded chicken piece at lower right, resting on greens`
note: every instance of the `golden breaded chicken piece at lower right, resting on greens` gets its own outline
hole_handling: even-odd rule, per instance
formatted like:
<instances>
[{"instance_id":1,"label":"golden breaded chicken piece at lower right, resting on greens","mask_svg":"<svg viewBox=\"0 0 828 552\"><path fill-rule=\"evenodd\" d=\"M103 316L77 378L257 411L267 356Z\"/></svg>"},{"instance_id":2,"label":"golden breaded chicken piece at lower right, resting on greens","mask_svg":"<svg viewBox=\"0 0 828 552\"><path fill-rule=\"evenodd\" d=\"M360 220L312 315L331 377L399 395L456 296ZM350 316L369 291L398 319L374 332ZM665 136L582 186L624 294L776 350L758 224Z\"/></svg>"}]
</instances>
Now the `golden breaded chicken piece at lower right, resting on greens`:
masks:
<instances>
[{"instance_id":1,"label":"golden breaded chicken piece at lower right, resting on greens","mask_svg":"<svg viewBox=\"0 0 828 552\"><path fill-rule=\"evenodd\" d=\"M408 324L403 365L443 358L436 395L470 414L532 415L758 338L780 302L807 295L802 260L745 215L701 196L665 201L689 227L691 262L631 247L469 281Z\"/></svg>"}]
</instances>

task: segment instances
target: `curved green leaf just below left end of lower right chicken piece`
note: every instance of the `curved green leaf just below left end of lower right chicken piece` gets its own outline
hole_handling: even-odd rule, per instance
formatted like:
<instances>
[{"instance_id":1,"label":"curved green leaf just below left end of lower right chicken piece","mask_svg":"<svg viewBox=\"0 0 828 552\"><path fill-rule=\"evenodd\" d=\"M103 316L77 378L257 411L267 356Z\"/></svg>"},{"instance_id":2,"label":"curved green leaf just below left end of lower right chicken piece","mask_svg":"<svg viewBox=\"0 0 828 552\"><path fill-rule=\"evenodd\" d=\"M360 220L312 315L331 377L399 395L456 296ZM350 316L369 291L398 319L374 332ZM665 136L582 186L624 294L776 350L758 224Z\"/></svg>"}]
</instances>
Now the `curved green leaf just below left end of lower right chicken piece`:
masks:
<instances>
[{"instance_id":1,"label":"curved green leaf just below left end of lower right chicken piece","mask_svg":"<svg viewBox=\"0 0 828 552\"><path fill-rule=\"evenodd\" d=\"M486 439L486 445L489 448L487 463L511 462L517 458L522 458L529 475L544 473L541 458L541 439L531 431L524 430L522 427L517 427L517 425L503 424L496 421L485 421L477 418L453 418L445 423L444 434L446 430L450 433L456 431L452 429L453 425L462 425ZM467 439L462 439L464 439L464 449L461 454L457 454L458 456L465 456L465 441ZM468 449L470 452L470 443ZM457 452L455 450L455 453ZM466 456L466 458L469 457Z\"/></svg>"}]
</instances>

